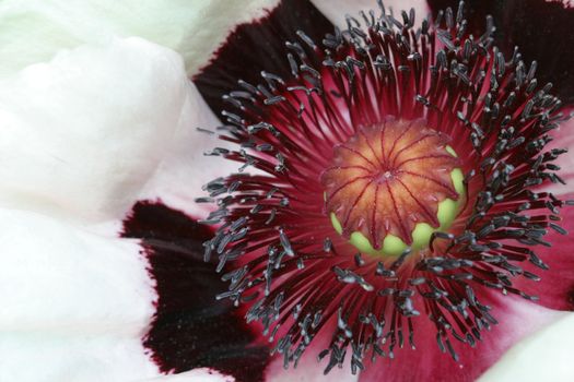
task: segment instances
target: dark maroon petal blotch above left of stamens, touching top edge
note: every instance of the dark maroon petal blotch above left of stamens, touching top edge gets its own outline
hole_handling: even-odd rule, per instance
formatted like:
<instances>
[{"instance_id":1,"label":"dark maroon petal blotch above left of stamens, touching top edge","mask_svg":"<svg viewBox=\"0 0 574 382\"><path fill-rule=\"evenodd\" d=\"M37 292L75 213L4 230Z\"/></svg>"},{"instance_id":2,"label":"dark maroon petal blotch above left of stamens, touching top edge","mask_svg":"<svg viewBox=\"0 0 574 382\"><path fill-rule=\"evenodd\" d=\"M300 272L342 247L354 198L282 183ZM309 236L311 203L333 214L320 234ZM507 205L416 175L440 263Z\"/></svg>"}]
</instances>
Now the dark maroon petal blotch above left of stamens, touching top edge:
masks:
<instances>
[{"instance_id":1,"label":"dark maroon petal blotch above left of stamens, touching top edge","mask_svg":"<svg viewBox=\"0 0 574 382\"><path fill-rule=\"evenodd\" d=\"M223 94L237 88L237 80L259 84L260 72L289 77L285 41L300 40L304 31L315 41L333 31L332 24L308 0L283 0L266 17L238 25L211 62L194 77L213 110L224 109Z\"/></svg>"}]
</instances>

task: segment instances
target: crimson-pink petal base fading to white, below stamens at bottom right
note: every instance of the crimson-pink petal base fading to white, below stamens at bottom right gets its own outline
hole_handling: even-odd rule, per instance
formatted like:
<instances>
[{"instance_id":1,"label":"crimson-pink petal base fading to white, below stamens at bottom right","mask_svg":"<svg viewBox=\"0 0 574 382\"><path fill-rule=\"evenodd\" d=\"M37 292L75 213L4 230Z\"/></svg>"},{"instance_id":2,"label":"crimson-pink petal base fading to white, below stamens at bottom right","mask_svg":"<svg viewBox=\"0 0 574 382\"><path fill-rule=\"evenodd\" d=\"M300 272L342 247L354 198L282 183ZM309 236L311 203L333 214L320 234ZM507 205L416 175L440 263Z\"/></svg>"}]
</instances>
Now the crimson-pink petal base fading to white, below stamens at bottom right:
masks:
<instances>
[{"instance_id":1,"label":"crimson-pink petal base fading to white, below stamens at bottom right","mask_svg":"<svg viewBox=\"0 0 574 382\"><path fill-rule=\"evenodd\" d=\"M491 295L489 305L499 324L492 325L490 333L484 332L482 342L475 347L452 343L458 362L438 350L433 323L419 320L414 325L417 349L412 350L406 339L405 348L396 349L396 359L379 358L376 365L366 363L359 381L471 382L516 342L563 317L516 296ZM443 343L443 346L448 351L447 344Z\"/></svg>"}]
</instances>

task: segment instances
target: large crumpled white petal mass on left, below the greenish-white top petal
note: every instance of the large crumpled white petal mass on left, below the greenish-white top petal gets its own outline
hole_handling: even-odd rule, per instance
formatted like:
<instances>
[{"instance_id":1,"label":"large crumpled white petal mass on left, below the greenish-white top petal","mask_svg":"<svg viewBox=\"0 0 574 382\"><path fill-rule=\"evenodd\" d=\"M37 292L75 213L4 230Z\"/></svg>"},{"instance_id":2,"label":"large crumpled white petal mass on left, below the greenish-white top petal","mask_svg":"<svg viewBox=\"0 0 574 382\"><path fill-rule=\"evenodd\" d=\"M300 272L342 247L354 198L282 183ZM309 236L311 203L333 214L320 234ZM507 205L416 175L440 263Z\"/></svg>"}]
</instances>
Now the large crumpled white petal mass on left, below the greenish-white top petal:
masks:
<instances>
[{"instance_id":1,"label":"large crumpled white petal mass on left, below the greenish-white top petal","mask_svg":"<svg viewBox=\"0 0 574 382\"><path fill-rule=\"evenodd\" d=\"M140 38L62 51L0 84L0 380L159 374L141 343L157 298L149 263L137 240L92 224L119 223L161 175L196 122L180 127L191 92L180 57Z\"/></svg>"}]
</instances>

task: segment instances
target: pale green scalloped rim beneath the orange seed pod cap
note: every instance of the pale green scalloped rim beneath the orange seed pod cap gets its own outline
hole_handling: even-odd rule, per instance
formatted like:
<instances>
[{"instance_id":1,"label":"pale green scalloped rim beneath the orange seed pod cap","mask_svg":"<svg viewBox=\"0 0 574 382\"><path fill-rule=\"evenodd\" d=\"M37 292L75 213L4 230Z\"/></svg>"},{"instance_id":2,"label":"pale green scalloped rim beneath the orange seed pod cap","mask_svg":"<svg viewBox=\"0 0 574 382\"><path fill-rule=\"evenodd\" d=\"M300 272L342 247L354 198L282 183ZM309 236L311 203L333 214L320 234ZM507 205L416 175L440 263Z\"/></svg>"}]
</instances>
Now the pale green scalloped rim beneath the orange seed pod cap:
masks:
<instances>
[{"instance_id":1,"label":"pale green scalloped rim beneath the orange seed pod cap","mask_svg":"<svg viewBox=\"0 0 574 382\"><path fill-rule=\"evenodd\" d=\"M457 154L453 150L453 147L446 146L445 150L450 155L457 157ZM436 213L436 217L438 219L440 226L437 228L433 228L427 223L419 223L414 226L414 229L412 230L412 250L421 250L426 248L429 246L433 232L446 231L448 228L450 228L453 222L455 220L458 214L459 206L464 201L464 196L466 193L466 188L464 183L465 176L462 175L462 170L460 168L453 169L453 171L450 171L450 179L453 181L453 186L455 187L456 192L460 195L460 198L458 198L458 201L454 201L447 198L441 203L438 203L438 211ZM343 228L335 213L330 214L330 219L332 227L335 228L337 234L341 235ZM405 252L405 250L409 247L399 237L395 235L387 235L383 240L382 249L376 250L373 248L368 239L359 231L351 234L349 242L362 253L371 254L374 256L398 256L402 252Z\"/></svg>"}]
</instances>

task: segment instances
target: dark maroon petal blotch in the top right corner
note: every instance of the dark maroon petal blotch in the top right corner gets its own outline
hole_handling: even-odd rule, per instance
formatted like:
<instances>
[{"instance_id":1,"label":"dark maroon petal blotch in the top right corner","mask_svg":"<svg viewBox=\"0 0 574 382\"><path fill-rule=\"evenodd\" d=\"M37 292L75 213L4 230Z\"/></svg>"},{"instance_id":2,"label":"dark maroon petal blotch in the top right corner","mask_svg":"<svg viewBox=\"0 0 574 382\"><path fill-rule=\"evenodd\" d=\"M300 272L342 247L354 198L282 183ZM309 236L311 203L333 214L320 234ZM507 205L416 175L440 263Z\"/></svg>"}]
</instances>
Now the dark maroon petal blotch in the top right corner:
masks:
<instances>
[{"instance_id":1,"label":"dark maroon petal blotch in the top right corner","mask_svg":"<svg viewBox=\"0 0 574 382\"><path fill-rule=\"evenodd\" d=\"M429 0L434 14L459 0ZM518 46L526 62L538 61L539 83L552 82L565 103L574 102L574 9L560 1L467 0L466 14L475 35L484 31L484 17L492 15L496 26L495 45L506 55Z\"/></svg>"}]
</instances>

